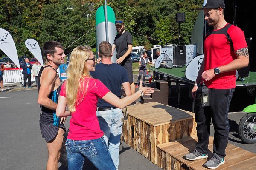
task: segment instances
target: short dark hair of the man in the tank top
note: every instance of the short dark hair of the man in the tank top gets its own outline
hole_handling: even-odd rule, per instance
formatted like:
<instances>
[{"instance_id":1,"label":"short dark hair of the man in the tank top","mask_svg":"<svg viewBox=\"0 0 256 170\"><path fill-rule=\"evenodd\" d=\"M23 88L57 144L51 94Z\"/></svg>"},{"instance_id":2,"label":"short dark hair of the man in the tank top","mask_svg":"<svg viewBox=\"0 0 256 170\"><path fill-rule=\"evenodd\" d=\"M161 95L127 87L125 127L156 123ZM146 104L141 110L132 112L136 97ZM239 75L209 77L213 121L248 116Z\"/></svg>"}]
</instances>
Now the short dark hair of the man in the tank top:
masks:
<instances>
[{"instance_id":1,"label":"short dark hair of the man in the tank top","mask_svg":"<svg viewBox=\"0 0 256 170\"><path fill-rule=\"evenodd\" d=\"M60 42L57 42L57 41L45 42L43 46L43 55L47 61L48 61L47 54L50 54L52 57L54 57L54 53L56 52L55 47L63 49L63 46L61 45Z\"/></svg>"}]
</instances>

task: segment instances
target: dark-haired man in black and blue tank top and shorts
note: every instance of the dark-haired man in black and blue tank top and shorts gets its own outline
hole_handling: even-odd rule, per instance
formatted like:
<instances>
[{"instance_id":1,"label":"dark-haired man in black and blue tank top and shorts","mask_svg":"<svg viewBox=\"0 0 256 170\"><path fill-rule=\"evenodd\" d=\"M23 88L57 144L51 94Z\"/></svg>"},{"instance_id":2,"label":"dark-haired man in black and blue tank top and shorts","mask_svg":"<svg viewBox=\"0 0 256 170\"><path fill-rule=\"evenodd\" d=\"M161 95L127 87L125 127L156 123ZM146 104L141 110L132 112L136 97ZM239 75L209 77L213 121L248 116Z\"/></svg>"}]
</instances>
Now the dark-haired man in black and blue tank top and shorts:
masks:
<instances>
[{"instance_id":1,"label":"dark-haired man in black and blue tank top and shorts","mask_svg":"<svg viewBox=\"0 0 256 170\"><path fill-rule=\"evenodd\" d=\"M38 104L41 107L40 130L47 142L46 169L58 170L66 118L56 116L58 95L61 89L61 80L56 70L60 64L64 64L65 54L61 43L56 41L46 42L43 54L47 64L40 69L38 74Z\"/></svg>"}]
</instances>

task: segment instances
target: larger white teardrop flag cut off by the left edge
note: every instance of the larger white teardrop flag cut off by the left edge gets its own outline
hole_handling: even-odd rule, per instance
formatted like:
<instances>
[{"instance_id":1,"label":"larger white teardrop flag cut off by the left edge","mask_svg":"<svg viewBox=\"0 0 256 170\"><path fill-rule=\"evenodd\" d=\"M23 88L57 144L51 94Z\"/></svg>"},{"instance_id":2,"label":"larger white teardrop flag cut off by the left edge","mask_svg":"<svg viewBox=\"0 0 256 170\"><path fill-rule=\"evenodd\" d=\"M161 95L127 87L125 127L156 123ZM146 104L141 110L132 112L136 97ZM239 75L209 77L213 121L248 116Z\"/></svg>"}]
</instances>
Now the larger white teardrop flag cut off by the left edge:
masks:
<instances>
[{"instance_id":1,"label":"larger white teardrop flag cut off by the left edge","mask_svg":"<svg viewBox=\"0 0 256 170\"><path fill-rule=\"evenodd\" d=\"M20 68L19 58L15 43L11 34L5 29L0 28L0 49Z\"/></svg>"}]
</instances>

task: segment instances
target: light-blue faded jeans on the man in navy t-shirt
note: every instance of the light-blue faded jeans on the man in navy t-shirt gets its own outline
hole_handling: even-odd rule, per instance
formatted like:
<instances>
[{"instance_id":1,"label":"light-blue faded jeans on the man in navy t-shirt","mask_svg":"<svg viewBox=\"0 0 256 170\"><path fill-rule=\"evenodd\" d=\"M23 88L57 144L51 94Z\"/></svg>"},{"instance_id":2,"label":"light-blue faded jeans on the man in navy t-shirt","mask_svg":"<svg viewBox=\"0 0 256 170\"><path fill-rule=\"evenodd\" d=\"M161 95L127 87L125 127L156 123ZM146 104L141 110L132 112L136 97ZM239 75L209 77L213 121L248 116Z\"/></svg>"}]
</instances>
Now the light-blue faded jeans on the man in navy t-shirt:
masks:
<instances>
[{"instance_id":1,"label":"light-blue faded jeans on the man in navy t-shirt","mask_svg":"<svg viewBox=\"0 0 256 170\"><path fill-rule=\"evenodd\" d=\"M119 146L122 134L123 113L122 109L111 109L108 111L97 111L100 129L103 130L103 136L111 158L115 164L116 170L119 165Z\"/></svg>"}]
</instances>

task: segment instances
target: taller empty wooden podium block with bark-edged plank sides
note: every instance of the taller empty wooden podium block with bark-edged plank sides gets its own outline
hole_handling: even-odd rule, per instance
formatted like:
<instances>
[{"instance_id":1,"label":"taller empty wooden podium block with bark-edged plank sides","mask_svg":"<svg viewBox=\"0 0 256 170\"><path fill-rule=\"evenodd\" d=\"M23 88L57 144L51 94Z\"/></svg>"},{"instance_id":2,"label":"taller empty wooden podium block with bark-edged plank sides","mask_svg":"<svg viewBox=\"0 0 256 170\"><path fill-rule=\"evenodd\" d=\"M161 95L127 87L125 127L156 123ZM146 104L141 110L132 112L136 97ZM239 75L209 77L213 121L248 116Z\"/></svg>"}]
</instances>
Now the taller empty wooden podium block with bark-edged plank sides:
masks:
<instances>
[{"instance_id":1,"label":"taller empty wooden podium block with bark-edged plank sides","mask_svg":"<svg viewBox=\"0 0 256 170\"><path fill-rule=\"evenodd\" d=\"M157 144L196 134L195 114L157 102L128 106L122 140L154 164Z\"/></svg>"}]
</instances>

